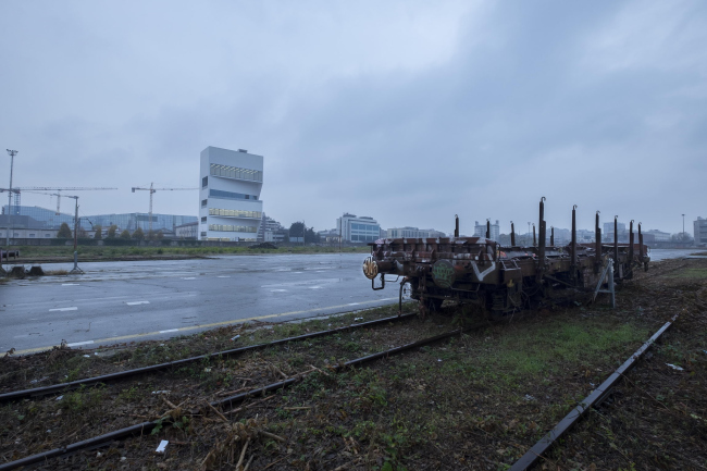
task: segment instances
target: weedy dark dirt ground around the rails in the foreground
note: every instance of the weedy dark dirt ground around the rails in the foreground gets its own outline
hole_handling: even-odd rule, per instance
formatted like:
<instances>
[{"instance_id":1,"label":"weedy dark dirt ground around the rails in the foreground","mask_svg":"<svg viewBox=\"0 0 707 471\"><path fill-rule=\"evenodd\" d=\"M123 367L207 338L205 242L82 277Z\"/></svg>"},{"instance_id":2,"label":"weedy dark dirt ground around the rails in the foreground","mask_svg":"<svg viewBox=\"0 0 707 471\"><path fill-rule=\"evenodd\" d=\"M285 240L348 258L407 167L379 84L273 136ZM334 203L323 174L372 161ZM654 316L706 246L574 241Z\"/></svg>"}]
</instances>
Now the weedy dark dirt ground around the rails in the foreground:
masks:
<instances>
[{"instance_id":1,"label":"weedy dark dirt ground around the rails in the foreground","mask_svg":"<svg viewBox=\"0 0 707 471\"><path fill-rule=\"evenodd\" d=\"M456 329L468 312L443 308L426 320L212 358L65 393L61 400L53 396L3 405L0 457L17 459L161 418L153 434L38 469L226 470L239 461L259 470L507 469L681 312L650 357L542 467L699 469L707 463L707 280L683 274L706 269L707 260L697 259L656 263L620 287L616 310L608 309L605 298L593 306L549 305L524 319L487 324L342 373L328 367ZM235 335L258 343L336 322L224 327L163 343L104 347L98 351L102 356L64 349L11 356L0 362L0 388L222 349L233 345ZM311 372L312 365L318 370ZM307 371L311 373L294 387L243 406L214 411L204 405ZM170 445L158 455L163 439Z\"/></svg>"}]
</instances>

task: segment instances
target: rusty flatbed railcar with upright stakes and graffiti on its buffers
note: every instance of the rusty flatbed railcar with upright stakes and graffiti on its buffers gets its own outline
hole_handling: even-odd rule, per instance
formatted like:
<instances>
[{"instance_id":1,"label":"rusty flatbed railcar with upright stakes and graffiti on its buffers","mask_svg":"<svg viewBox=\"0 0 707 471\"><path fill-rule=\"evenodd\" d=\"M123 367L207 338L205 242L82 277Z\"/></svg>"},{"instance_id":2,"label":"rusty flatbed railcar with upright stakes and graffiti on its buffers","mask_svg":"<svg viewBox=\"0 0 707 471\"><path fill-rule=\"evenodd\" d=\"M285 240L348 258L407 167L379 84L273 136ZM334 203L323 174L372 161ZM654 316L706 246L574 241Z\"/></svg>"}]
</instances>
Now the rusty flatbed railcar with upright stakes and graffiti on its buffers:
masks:
<instances>
[{"instance_id":1,"label":"rusty flatbed railcar with upright stakes and graffiti on its buffers","mask_svg":"<svg viewBox=\"0 0 707 471\"><path fill-rule=\"evenodd\" d=\"M404 286L409 284L410 296L420 302L423 313L454 300L480 305L498 318L522 310L557 289L592 292L608 283L609 275L612 283L632 277L638 267L647 270L649 252L643 244L641 225L638 244L634 244L633 222L629 244L619 244L616 231L613 244L601 244L597 212L595 231L599 241L578 244L575 215L576 207L572 209L572 240L561 247L555 246L554 234L546 245L544 198L539 202L539 237L530 247L516 245L512 223L508 247L488 238L488 223L486 237L459 237L457 218L455 237L385 238L369 244L371 256L363 261L363 273L373 289L385 287L386 275L401 276L400 299Z\"/></svg>"}]
</instances>

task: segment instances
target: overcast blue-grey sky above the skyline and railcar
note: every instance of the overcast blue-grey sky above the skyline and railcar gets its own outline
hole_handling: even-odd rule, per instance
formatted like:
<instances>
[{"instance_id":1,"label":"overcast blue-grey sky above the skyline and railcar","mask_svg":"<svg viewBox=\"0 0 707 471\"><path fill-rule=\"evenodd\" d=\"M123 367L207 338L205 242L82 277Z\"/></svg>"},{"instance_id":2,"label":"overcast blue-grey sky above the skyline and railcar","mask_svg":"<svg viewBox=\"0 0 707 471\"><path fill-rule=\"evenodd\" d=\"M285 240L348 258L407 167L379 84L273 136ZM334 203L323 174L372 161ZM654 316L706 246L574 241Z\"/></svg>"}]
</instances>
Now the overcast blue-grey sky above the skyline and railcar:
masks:
<instances>
[{"instance_id":1,"label":"overcast blue-grey sky above the skyline and railcar","mask_svg":"<svg viewBox=\"0 0 707 471\"><path fill-rule=\"evenodd\" d=\"M83 191L82 214L198 186L215 146L264 156L263 208L287 226L459 214L508 233L542 196L556 227L572 204L586 228L596 210L671 233L707 216L700 0L4 0L0 64L13 186L120 188ZM197 191L153 210L197 215Z\"/></svg>"}]
</instances>

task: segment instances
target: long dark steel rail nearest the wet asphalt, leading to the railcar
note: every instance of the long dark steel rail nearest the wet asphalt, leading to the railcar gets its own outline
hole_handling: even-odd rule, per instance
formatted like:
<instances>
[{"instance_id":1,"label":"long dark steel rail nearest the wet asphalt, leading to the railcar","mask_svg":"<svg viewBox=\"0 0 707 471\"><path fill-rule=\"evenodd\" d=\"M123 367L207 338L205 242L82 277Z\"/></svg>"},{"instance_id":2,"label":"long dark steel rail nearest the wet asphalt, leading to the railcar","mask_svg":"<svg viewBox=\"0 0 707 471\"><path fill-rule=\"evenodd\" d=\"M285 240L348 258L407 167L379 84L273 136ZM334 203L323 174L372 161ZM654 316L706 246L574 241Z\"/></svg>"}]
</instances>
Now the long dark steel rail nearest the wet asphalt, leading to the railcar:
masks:
<instances>
[{"instance_id":1,"label":"long dark steel rail nearest the wet asphalt, leading to the railcar","mask_svg":"<svg viewBox=\"0 0 707 471\"><path fill-rule=\"evenodd\" d=\"M61 384L53 384L50 386L44 386L44 387L35 387L32 389L22 389L22 391L14 391L11 393L4 393L0 394L0 404L7 402L10 400L16 400L16 399L23 399L27 397L39 397L39 396L46 396L49 394L54 394L54 393L60 393L60 392L65 392L65 391L72 391L76 389L80 386L87 386L87 385L92 385L92 384L98 384L98 383L107 383L111 381L116 381L116 380L123 380L125 377L129 376L135 376L138 374L145 374L145 373L151 373L153 371L159 371L159 370L165 370L168 368L173 368L173 367L181 367L183 364L191 363L195 361L200 361L207 358L211 357L219 357L219 356L230 356L230 355L235 355L235 354L243 354L244 351L250 351L250 350L258 350L266 347L274 347L276 345L282 345L286 344L288 342L298 342L298 340L305 340L307 338L313 338L313 337L321 337L324 335L331 335L335 334L337 332L344 332L348 331L351 329L362 329L362 327L370 327L373 325L377 324L384 324L386 322L396 322L400 320L407 320L415 317L417 314L404 314L404 315L394 315L390 318L383 318L383 319L377 319L375 321L369 321L369 322L361 322L359 324L350 324L346 325L343 327L336 327L336 329L330 329L326 331L319 331L319 332L312 332L311 334L303 334L303 335L298 335L295 337L287 337L287 338L282 338L280 340L273 340L273 342L268 342L264 344L257 344L257 345L250 345L248 347L239 347L239 348L233 348L231 350L223 350L223 351L218 351L214 354L204 354L204 355L199 355L197 357L190 357L190 358L184 358L182 360L174 360L174 361L169 361L166 363L159 363L159 364L152 364L150 367L142 367L142 368L136 368L134 370L125 370L125 371L120 371L116 373L110 373L110 374L103 374L101 376L92 376L92 377L86 377L83 380L76 380L72 381L69 383L61 383Z\"/></svg>"}]
</instances>

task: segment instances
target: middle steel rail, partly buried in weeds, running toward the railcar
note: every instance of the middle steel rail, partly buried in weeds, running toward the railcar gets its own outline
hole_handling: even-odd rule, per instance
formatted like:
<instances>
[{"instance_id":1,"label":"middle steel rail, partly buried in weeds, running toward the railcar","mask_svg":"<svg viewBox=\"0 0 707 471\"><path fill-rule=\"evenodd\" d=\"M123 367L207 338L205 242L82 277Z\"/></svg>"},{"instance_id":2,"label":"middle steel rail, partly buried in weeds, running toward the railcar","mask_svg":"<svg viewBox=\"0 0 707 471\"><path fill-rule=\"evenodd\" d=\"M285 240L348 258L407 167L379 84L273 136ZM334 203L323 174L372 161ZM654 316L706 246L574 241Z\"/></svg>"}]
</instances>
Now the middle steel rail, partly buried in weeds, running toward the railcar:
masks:
<instances>
[{"instance_id":1,"label":"middle steel rail, partly buried in weeds, running toward the railcar","mask_svg":"<svg viewBox=\"0 0 707 471\"><path fill-rule=\"evenodd\" d=\"M483 325L486 325L486 324L483 324ZM390 348L390 349L385 350L385 351L381 351L381 352L373 354L373 355L368 355L365 357L361 357L361 358L357 358L355 360L347 361L344 364L333 367L332 370L335 371L335 372L342 372L342 371L346 370L347 368L352 368L352 367L357 367L357 365L362 364L362 363L367 363L369 361L374 361L374 360L379 360L381 358L388 358L388 357L394 356L394 355L399 355L399 354L401 354L404 351L410 350L411 348L422 347L424 345L432 344L434 342L443 340L445 338L449 338L449 337L452 337L455 335L462 334L463 332L468 332L468 331L473 330L473 329L474 327L466 329L466 330L457 329L455 331L450 331L450 332L447 332L447 333L444 333L444 334L435 335L434 337L427 337L427 338L423 338L422 340L411 342L411 343L402 345L400 347ZM308 374L311 374L311 373L312 372L309 372ZM269 384L268 386L263 386L263 387L260 387L258 389L249 391L247 393L238 394L238 395L235 395L235 396L226 397L225 399L216 400L216 401L210 402L210 404L213 407L216 407L216 406L235 406L235 405L238 405L238 404L243 402L244 400L246 400L246 399L248 399L250 397L255 397L255 396L258 396L258 395L265 395L266 393L292 386L293 384L297 383L302 377L303 377L303 375L301 375L301 374L296 375L296 376L290 377L290 379L285 380L285 381L280 381L277 383ZM103 434L103 435L99 435L99 436L95 436L92 438L87 438L87 439L82 441L82 442L73 443L73 444L67 445L65 447L54 448L54 449L44 451L44 453L40 453L40 454L37 454L37 455L30 455L28 457L21 458L21 459L15 460L15 461L10 461L10 462L7 462L7 463L2 463L2 464L0 464L0 471L9 471L9 470L14 470L14 469L20 468L20 467L35 464L35 463L40 462L40 461L46 461L46 460L48 460L50 458L55 458L55 457L59 457L59 456L62 456L62 455L76 453L76 451L79 451L82 449L97 448L97 447L99 447L101 445L104 445L104 444L107 444L109 442L112 442L114 439L125 438L127 436L142 434L145 432L150 432L157 425L158 425L157 420L154 420L152 422L138 423L136 425L127 426L125 429L120 429L120 430L116 430L116 431L113 431L113 432L110 432L110 433L107 433L107 434Z\"/></svg>"}]
</instances>

